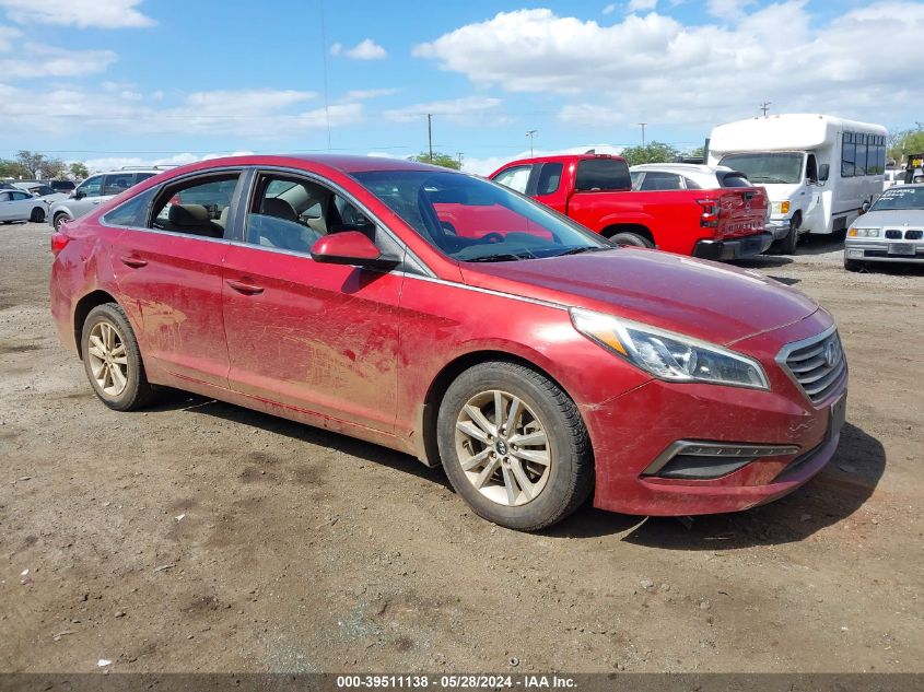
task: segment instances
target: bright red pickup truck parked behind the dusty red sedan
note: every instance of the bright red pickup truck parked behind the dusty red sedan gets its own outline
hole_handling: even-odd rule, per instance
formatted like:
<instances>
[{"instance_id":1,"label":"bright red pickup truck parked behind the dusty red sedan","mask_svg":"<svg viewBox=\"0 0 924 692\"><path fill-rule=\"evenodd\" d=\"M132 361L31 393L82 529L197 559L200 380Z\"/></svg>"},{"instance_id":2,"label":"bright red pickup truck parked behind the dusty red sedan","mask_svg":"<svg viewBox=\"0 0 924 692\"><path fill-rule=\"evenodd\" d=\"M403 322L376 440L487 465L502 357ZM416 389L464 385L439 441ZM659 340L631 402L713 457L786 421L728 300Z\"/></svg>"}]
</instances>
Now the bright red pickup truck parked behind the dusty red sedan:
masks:
<instances>
[{"instance_id":1,"label":"bright red pickup truck parked behind the dusty red sedan","mask_svg":"<svg viewBox=\"0 0 924 692\"><path fill-rule=\"evenodd\" d=\"M490 178L623 245L734 259L773 242L760 187L632 191L625 161L599 154L523 159Z\"/></svg>"}]
</instances>

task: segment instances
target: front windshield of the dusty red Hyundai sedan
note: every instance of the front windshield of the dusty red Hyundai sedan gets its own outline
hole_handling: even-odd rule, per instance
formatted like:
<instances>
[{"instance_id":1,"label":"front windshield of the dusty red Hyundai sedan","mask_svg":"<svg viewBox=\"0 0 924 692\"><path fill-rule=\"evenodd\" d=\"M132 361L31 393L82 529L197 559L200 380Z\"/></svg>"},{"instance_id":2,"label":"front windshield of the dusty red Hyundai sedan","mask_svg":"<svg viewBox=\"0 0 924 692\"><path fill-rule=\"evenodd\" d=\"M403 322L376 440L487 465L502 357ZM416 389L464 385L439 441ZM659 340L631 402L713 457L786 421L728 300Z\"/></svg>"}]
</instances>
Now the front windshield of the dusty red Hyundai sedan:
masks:
<instances>
[{"instance_id":1,"label":"front windshield of the dusty red Hyundai sedan","mask_svg":"<svg viewBox=\"0 0 924 692\"><path fill-rule=\"evenodd\" d=\"M424 239L469 262L610 249L606 239L501 185L436 171L353 173Z\"/></svg>"}]
</instances>

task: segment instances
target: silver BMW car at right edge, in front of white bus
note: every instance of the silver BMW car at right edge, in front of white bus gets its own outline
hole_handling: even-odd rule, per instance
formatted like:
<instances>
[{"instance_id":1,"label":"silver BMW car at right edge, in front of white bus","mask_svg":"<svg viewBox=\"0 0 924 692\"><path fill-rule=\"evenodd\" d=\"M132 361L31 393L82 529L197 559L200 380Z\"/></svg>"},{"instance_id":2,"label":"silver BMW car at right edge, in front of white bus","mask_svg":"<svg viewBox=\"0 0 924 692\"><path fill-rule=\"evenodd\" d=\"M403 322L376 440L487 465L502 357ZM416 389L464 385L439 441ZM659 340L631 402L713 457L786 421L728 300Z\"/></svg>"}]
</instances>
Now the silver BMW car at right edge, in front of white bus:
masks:
<instances>
[{"instance_id":1,"label":"silver BMW car at right edge, in front of white bus","mask_svg":"<svg viewBox=\"0 0 924 692\"><path fill-rule=\"evenodd\" d=\"M844 269L870 262L924 261L924 184L890 187L854 221L844 239Z\"/></svg>"}]
</instances>

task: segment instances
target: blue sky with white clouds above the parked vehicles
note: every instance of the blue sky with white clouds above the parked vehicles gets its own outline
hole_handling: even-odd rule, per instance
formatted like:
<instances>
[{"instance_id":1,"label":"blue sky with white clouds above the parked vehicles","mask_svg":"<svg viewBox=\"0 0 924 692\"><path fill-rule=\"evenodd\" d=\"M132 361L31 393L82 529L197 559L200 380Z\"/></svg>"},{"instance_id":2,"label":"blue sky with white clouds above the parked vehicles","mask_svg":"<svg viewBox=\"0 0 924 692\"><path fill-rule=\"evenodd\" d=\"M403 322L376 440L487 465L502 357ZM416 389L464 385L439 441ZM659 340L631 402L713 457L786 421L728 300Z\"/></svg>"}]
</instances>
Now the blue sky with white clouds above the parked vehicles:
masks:
<instances>
[{"instance_id":1,"label":"blue sky with white clouds above the parked vehicles","mask_svg":"<svg viewBox=\"0 0 924 692\"><path fill-rule=\"evenodd\" d=\"M433 113L435 149L484 173L530 129L559 151L644 121L691 149L764 101L899 129L922 119L911 45L924 3L900 0L0 0L0 156L406 156Z\"/></svg>"}]
</instances>

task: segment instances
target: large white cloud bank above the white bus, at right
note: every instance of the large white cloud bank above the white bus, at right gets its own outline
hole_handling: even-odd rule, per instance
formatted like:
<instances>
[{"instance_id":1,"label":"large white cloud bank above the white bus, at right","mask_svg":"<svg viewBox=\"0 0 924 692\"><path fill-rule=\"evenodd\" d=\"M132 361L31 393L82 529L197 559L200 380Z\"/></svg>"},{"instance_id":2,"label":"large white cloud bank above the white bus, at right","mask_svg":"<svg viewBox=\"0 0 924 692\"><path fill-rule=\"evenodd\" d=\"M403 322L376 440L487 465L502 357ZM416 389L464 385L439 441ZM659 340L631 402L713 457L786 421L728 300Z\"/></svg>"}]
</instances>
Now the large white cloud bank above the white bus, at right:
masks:
<instances>
[{"instance_id":1,"label":"large white cloud bank above the white bus, at right","mask_svg":"<svg viewBox=\"0 0 924 692\"><path fill-rule=\"evenodd\" d=\"M756 114L763 101L777 113L916 117L907 87L920 82L920 67L857 47L916 45L924 3L880 0L827 22L806 0L714 9L741 13L723 25L685 25L657 12L601 25L551 10L501 12L418 45L413 55L481 89L576 96L559 114L575 125L656 120L707 129Z\"/></svg>"}]
</instances>

